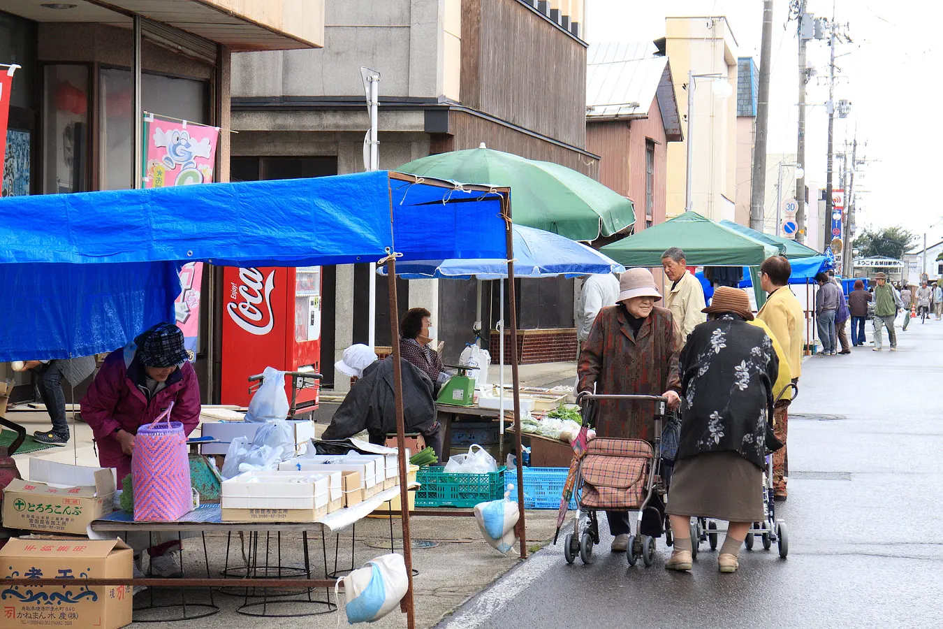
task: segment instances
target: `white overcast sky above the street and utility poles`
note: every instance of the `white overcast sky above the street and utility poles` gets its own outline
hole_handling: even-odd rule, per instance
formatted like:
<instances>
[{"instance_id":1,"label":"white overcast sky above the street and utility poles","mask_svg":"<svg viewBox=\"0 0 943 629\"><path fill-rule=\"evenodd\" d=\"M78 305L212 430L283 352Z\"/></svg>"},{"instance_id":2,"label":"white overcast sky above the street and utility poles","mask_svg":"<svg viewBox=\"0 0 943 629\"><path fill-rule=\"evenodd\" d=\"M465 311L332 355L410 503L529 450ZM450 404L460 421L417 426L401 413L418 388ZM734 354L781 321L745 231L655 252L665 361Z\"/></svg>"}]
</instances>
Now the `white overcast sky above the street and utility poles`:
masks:
<instances>
[{"instance_id":1,"label":"white overcast sky above the street and utility poles","mask_svg":"<svg viewBox=\"0 0 943 629\"><path fill-rule=\"evenodd\" d=\"M831 17L832 4L807 0L807 10ZM773 5L769 153L774 154L796 151L798 41L796 23L786 25L788 5L788 0ZM726 16L738 55L753 57L759 65L762 0L587 0L586 36L588 41L650 41L664 36L666 16L705 15ZM835 118L835 150L843 150L846 138L851 143L857 126L858 158L868 160L855 176L855 189L861 191L859 232L864 225L901 224L921 237L927 232L931 244L943 240L943 207L935 185L943 178L943 160L936 125L930 122L940 109L941 19L943 3L937 0L835 2L835 21L848 23L852 38L835 49L841 69L835 100L852 101L852 114ZM806 177L824 188L828 117L820 105L828 100L829 48L813 40L807 50L818 75L808 85L806 102L819 107L806 108Z\"/></svg>"}]
</instances>

